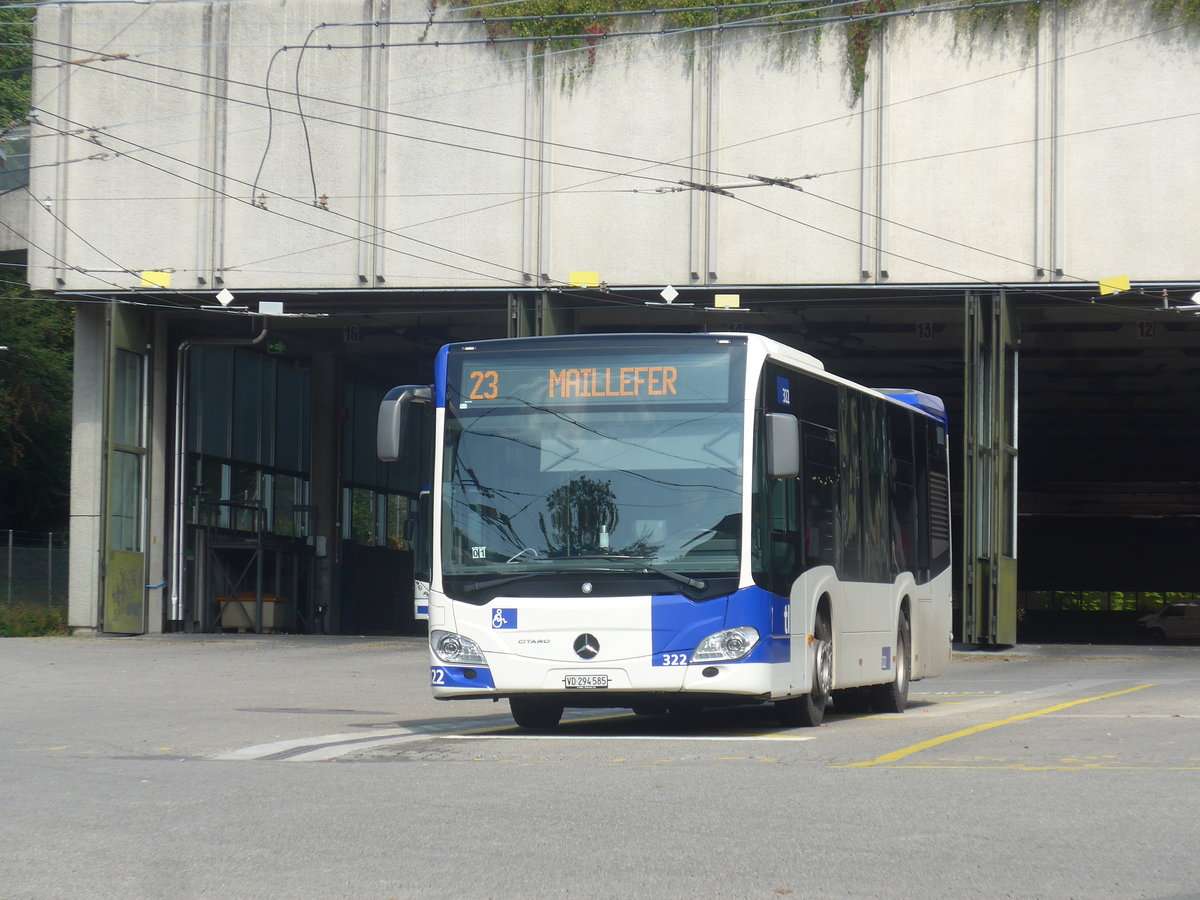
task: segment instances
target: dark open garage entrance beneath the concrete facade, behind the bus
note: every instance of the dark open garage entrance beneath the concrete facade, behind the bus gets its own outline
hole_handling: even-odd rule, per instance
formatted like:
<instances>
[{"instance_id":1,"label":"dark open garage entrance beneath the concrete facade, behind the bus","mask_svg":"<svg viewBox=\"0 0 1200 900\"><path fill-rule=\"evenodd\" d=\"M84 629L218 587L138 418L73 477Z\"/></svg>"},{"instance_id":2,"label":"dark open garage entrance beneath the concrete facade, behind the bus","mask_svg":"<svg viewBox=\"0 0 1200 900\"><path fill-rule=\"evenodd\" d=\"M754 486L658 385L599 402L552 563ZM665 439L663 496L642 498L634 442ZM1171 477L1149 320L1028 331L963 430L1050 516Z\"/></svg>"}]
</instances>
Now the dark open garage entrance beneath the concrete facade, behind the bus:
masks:
<instances>
[{"instance_id":1,"label":"dark open garage entrance beneath the concrete facade, behind the bus","mask_svg":"<svg viewBox=\"0 0 1200 900\"><path fill-rule=\"evenodd\" d=\"M1200 319L1158 295L1092 290L742 289L736 307L698 292L668 305L658 288L364 293L284 298L282 317L158 313L172 378L185 373L166 618L416 632L406 522L422 473L374 458L384 391L430 382L449 341L746 330L946 401L959 640L1132 638L1138 614L1200 589Z\"/></svg>"}]
</instances>

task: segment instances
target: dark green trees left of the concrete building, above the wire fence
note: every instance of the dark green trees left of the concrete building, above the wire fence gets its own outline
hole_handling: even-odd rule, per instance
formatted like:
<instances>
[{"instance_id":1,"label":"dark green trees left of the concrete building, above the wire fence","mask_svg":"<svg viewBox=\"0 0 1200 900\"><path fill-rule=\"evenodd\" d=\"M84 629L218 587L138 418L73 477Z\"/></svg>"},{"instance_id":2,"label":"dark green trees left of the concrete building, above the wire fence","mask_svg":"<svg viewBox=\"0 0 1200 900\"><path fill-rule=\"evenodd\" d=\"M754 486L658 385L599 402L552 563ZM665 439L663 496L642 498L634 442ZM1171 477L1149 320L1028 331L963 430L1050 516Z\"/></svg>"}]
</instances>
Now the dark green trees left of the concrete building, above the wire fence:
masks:
<instances>
[{"instance_id":1,"label":"dark green trees left of the concrete building, above the wire fence","mask_svg":"<svg viewBox=\"0 0 1200 900\"><path fill-rule=\"evenodd\" d=\"M0 528L67 521L73 342L74 311L0 269Z\"/></svg>"}]
</instances>

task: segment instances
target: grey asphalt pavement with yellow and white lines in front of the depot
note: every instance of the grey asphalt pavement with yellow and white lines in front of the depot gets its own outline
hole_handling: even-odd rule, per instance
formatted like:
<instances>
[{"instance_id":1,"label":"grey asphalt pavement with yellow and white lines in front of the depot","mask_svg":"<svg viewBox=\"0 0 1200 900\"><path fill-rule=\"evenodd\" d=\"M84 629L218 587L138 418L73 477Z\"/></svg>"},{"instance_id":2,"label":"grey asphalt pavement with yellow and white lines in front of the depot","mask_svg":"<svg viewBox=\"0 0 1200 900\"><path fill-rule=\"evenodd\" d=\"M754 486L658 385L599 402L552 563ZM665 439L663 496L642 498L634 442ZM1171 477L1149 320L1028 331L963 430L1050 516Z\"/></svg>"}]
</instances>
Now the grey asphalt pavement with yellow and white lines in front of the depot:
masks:
<instances>
[{"instance_id":1,"label":"grey asphalt pavement with yellow and white lines in front of the depot","mask_svg":"<svg viewBox=\"0 0 1200 900\"><path fill-rule=\"evenodd\" d=\"M1200 647L780 728L428 691L422 638L0 641L0 898L1200 895Z\"/></svg>"}]
</instances>

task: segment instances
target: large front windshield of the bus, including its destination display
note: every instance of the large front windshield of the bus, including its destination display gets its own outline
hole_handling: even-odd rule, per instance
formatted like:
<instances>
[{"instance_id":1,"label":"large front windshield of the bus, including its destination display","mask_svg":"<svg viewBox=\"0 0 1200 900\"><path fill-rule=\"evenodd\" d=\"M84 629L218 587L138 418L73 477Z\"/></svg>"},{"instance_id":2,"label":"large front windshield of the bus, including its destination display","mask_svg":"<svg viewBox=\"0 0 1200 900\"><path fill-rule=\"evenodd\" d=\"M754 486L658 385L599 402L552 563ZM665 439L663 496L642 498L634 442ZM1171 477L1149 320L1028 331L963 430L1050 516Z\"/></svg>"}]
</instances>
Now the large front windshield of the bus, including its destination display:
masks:
<instances>
[{"instance_id":1,"label":"large front windshield of the bus, including its destination display","mask_svg":"<svg viewBox=\"0 0 1200 900\"><path fill-rule=\"evenodd\" d=\"M740 356L592 353L451 354L444 575L737 574Z\"/></svg>"}]
</instances>

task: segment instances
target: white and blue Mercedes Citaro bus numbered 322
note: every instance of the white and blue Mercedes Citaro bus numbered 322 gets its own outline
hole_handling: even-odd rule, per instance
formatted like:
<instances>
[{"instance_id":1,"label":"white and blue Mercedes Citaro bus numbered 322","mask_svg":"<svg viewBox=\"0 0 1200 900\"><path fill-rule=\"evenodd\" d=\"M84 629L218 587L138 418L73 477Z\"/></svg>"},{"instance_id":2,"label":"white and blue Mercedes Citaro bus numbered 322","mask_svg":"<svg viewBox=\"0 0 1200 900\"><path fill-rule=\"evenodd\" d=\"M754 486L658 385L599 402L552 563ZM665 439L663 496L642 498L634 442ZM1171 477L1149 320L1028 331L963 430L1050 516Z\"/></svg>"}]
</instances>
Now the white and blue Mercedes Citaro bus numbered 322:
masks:
<instances>
[{"instance_id":1,"label":"white and blue Mercedes Citaro bus numbered 322","mask_svg":"<svg viewBox=\"0 0 1200 900\"><path fill-rule=\"evenodd\" d=\"M748 334L455 343L392 389L379 456L434 407L439 700L636 713L901 712L950 659L942 402Z\"/></svg>"}]
</instances>

